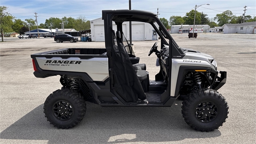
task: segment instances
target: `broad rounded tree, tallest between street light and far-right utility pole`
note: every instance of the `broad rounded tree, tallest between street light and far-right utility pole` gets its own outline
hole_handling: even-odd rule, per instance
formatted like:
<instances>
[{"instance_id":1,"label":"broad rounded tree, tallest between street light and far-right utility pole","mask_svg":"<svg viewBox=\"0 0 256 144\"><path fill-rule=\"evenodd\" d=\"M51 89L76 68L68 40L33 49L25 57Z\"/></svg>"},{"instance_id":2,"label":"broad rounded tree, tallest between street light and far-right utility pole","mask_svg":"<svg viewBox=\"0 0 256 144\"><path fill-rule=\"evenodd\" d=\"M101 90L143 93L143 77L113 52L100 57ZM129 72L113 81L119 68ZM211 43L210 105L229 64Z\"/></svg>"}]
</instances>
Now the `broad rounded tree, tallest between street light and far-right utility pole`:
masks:
<instances>
[{"instance_id":1,"label":"broad rounded tree, tallest between street light and far-right utility pole","mask_svg":"<svg viewBox=\"0 0 256 144\"><path fill-rule=\"evenodd\" d=\"M230 10L226 10L221 14L216 14L214 20L217 20L219 26L224 24L236 23L236 15L234 15Z\"/></svg>"}]
</instances>

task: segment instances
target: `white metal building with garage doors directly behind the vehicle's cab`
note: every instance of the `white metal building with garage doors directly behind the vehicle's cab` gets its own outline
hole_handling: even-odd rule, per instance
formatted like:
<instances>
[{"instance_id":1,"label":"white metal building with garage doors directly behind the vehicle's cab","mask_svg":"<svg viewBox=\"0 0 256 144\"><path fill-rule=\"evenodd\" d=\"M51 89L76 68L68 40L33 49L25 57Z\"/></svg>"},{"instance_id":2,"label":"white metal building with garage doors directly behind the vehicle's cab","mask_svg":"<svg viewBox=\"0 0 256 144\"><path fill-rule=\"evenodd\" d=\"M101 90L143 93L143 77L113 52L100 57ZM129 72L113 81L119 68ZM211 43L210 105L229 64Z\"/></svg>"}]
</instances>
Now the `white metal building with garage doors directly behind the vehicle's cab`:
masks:
<instances>
[{"instance_id":1,"label":"white metal building with garage doors directly behind the vehicle's cab","mask_svg":"<svg viewBox=\"0 0 256 144\"><path fill-rule=\"evenodd\" d=\"M92 41L95 42L104 42L105 33L104 33L104 20L102 18L97 18L95 20L90 21L91 24L91 34ZM116 32L116 24L113 22L113 30ZM158 28L158 24L155 23ZM130 40L129 34L129 22L124 22L122 25L124 36L127 40ZM153 30L154 28L144 22L132 22L132 41L139 40L152 40L153 38ZM158 36L157 36L158 37Z\"/></svg>"}]
</instances>

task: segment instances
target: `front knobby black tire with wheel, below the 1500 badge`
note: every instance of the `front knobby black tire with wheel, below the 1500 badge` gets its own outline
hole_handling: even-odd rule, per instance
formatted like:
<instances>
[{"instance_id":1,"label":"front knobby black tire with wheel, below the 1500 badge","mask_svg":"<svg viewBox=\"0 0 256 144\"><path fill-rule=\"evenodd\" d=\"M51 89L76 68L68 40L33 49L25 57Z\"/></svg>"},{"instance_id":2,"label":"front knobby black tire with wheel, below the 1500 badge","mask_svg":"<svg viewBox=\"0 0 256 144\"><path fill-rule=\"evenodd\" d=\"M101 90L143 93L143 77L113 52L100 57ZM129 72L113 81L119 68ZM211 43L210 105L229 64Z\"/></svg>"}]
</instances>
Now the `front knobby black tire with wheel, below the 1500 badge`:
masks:
<instances>
[{"instance_id":1,"label":"front knobby black tire with wheel, below the 1500 badge","mask_svg":"<svg viewBox=\"0 0 256 144\"><path fill-rule=\"evenodd\" d=\"M182 116L195 130L213 131L226 122L228 104L215 90L206 88L195 90L182 102Z\"/></svg>"}]
</instances>

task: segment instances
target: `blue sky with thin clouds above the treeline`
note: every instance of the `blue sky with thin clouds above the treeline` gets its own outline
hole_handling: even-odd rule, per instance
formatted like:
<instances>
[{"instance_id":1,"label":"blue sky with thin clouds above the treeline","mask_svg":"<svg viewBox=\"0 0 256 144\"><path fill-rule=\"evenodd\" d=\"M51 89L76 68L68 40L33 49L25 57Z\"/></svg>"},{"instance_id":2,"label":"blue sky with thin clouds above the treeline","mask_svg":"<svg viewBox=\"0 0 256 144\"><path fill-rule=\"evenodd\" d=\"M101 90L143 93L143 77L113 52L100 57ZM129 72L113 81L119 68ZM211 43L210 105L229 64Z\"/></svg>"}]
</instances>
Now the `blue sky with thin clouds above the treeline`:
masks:
<instances>
[{"instance_id":1,"label":"blue sky with thin clouds above the treeline","mask_svg":"<svg viewBox=\"0 0 256 144\"><path fill-rule=\"evenodd\" d=\"M256 16L256 0L132 0L132 9L156 13L159 8L159 18L169 20L173 15L185 16L196 4L210 4L197 8L209 18L225 10L241 16L244 6L248 6L246 15ZM50 17L85 16L87 20L94 20L102 16L101 10L129 8L128 0L0 0L0 5L8 6L8 11L21 20L35 19L34 12L37 12L39 24Z\"/></svg>"}]
</instances>

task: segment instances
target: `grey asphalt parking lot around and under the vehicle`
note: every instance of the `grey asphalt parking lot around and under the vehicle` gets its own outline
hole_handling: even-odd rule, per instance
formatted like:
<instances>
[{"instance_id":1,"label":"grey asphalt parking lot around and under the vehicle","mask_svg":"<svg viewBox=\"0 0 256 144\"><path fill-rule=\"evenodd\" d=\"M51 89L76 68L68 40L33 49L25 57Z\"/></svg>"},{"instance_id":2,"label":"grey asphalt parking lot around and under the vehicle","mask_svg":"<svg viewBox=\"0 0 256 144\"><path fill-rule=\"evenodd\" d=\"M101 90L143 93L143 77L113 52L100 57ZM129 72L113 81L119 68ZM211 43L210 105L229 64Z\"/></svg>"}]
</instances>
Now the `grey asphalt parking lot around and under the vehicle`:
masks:
<instances>
[{"instance_id":1,"label":"grey asphalt parking lot around and under the vehicle","mask_svg":"<svg viewBox=\"0 0 256 144\"><path fill-rule=\"evenodd\" d=\"M227 71L227 82L218 91L228 102L229 114L218 130L191 129L182 118L179 100L170 108L102 108L87 103L86 116L78 126L57 129L44 118L43 103L61 88L60 77L34 77L30 54L58 48L104 48L104 42L6 38L0 42L0 143L256 143L256 34L172 36L180 47L210 54L218 70ZM151 80L159 71L156 56L148 56L154 42L133 42Z\"/></svg>"}]
</instances>

